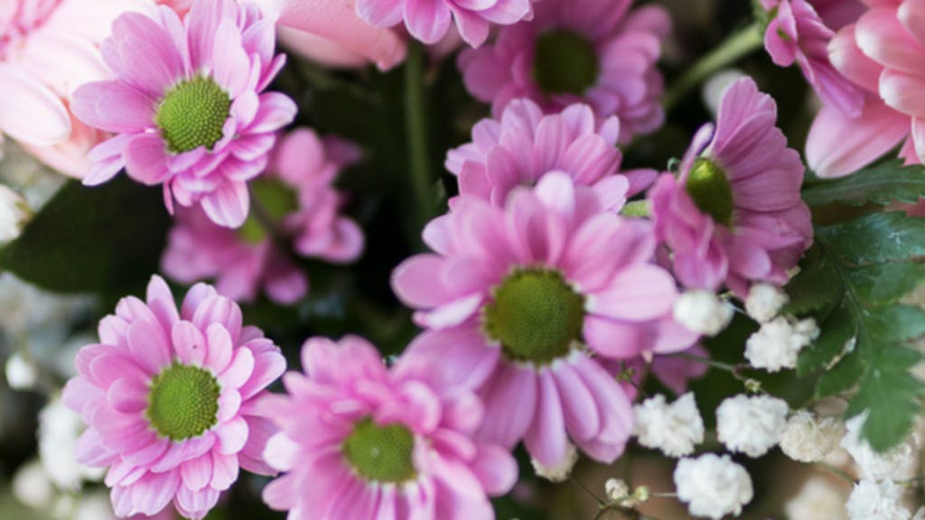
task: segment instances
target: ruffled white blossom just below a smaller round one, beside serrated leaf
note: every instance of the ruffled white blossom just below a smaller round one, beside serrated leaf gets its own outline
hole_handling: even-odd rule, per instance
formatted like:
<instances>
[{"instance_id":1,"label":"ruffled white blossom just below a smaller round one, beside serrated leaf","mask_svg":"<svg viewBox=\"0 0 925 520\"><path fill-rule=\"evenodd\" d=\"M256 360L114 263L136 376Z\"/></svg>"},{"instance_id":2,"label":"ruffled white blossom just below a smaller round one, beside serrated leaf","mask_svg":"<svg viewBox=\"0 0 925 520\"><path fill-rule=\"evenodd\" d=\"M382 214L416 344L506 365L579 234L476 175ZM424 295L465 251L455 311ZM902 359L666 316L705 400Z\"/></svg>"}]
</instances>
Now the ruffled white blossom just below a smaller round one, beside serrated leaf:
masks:
<instances>
[{"instance_id":1,"label":"ruffled white blossom just below a smaller round one, beside serrated leaf","mask_svg":"<svg viewBox=\"0 0 925 520\"><path fill-rule=\"evenodd\" d=\"M746 359L756 368L777 372L795 368L800 351L819 337L819 327L812 318L796 321L778 316L762 324L746 340Z\"/></svg>"}]
</instances>

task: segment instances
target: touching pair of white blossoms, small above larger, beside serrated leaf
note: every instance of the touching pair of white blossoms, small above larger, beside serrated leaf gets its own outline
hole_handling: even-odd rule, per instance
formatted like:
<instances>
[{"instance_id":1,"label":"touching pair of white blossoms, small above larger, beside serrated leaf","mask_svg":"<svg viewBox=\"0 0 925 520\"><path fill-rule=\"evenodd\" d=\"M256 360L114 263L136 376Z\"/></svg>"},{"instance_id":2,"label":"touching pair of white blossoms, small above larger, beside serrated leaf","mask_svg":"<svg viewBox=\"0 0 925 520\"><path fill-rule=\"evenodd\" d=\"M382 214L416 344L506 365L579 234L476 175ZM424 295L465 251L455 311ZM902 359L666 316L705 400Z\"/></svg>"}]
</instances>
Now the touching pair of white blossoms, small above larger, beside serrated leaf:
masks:
<instances>
[{"instance_id":1,"label":"touching pair of white blossoms, small above larger, beside serrated leaf","mask_svg":"<svg viewBox=\"0 0 925 520\"><path fill-rule=\"evenodd\" d=\"M761 324L746 340L746 359L755 368L796 368L800 351L819 338L816 320L779 316L787 302L786 293L768 284L757 283L748 291L746 313Z\"/></svg>"}]
</instances>

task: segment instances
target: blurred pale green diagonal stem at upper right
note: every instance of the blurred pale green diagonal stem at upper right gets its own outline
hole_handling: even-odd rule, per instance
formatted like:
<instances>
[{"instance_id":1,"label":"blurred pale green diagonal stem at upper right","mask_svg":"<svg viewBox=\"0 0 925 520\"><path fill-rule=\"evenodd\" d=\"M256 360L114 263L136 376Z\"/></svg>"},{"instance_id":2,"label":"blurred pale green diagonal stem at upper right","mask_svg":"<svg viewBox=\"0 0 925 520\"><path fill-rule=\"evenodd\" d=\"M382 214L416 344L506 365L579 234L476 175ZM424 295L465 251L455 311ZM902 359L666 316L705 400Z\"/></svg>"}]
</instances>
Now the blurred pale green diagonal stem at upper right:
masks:
<instances>
[{"instance_id":1,"label":"blurred pale green diagonal stem at upper right","mask_svg":"<svg viewBox=\"0 0 925 520\"><path fill-rule=\"evenodd\" d=\"M701 57L693 67L687 70L665 94L662 105L665 112L671 112L690 91L697 87L711 74L726 68L744 56L758 49L762 43L761 29L758 23L753 23L745 29L734 32L725 42Z\"/></svg>"}]
</instances>

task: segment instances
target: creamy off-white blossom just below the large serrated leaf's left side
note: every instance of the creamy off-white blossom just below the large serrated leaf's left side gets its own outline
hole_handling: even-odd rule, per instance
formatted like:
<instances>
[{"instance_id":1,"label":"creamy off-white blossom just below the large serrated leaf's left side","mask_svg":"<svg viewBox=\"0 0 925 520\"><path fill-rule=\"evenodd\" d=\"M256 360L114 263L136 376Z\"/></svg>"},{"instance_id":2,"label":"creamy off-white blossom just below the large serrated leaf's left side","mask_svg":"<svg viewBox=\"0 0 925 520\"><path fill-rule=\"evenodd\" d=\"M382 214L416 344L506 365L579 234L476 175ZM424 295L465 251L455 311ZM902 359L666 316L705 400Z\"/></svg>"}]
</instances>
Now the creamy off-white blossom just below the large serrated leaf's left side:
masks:
<instances>
[{"instance_id":1,"label":"creamy off-white blossom just below the large serrated leaf's left side","mask_svg":"<svg viewBox=\"0 0 925 520\"><path fill-rule=\"evenodd\" d=\"M781 451L802 463L820 462L845 436L845 425L834 417L820 417L798 410L787 419Z\"/></svg>"}]
</instances>

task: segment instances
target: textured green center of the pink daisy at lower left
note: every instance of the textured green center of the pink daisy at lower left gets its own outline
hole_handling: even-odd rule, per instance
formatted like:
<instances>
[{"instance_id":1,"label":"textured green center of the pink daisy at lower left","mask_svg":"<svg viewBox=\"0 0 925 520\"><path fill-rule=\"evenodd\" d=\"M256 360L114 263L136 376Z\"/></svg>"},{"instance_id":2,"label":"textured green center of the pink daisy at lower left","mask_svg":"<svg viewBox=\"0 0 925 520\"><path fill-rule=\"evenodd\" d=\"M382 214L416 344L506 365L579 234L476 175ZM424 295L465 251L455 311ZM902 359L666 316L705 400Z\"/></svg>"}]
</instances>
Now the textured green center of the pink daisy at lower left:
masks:
<instances>
[{"instance_id":1,"label":"textured green center of the pink daisy at lower left","mask_svg":"<svg viewBox=\"0 0 925 520\"><path fill-rule=\"evenodd\" d=\"M191 439L216 425L221 389L211 372L175 363L151 381L148 419L170 440Z\"/></svg>"}]
</instances>

